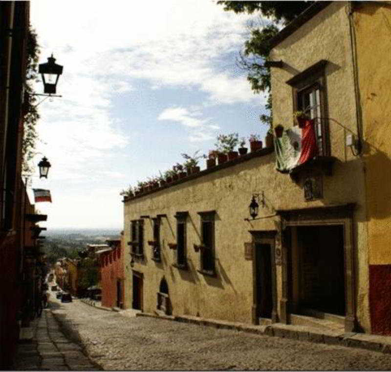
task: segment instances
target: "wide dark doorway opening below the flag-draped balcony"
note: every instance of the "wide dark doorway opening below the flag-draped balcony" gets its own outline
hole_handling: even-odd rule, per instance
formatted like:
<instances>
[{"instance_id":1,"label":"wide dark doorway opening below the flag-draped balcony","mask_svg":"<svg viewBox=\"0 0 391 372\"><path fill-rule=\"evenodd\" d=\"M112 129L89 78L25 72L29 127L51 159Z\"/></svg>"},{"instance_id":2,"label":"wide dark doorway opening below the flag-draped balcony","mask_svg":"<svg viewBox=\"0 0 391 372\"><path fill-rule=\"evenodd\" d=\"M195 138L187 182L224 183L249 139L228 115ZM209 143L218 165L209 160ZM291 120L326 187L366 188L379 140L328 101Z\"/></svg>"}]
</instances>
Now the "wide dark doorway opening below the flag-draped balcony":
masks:
<instances>
[{"instance_id":1,"label":"wide dark doorway opening below the flag-draped balcony","mask_svg":"<svg viewBox=\"0 0 391 372\"><path fill-rule=\"evenodd\" d=\"M342 225L300 226L292 236L292 282L298 311L342 315L345 310ZM296 278L295 278L296 277Z\"/></svg>"}]
</instances>

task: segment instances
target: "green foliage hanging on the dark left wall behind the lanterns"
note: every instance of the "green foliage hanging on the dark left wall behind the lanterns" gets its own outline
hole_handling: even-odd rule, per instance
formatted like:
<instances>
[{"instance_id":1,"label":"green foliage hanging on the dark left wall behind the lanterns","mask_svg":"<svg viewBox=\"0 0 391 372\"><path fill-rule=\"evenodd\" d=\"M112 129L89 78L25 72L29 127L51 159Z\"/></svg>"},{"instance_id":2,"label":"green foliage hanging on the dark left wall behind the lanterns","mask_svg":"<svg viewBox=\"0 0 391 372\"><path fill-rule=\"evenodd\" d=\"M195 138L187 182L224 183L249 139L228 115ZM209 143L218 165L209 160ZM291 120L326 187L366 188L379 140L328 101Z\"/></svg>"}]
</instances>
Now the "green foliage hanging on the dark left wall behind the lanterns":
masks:
<instances>
[{"instance_id":1,"label":"green foliage hanging on the dark left wall behind the lanterns","mask_svg":"<svg viewBox=\"0 0 391 372\"><path fill-rule=\"evenodd\" d=\"M38 140L38 133L36 124L40 118L37 110L37 98L32 95L34 93L33 82L38 77L38 58L40 50L37 43L37 34L31 25L27 33L27 69L25 80L25 93L23 102L23 141L22 141L22 173L23 176L31 176L34 172L30 161L35 155L36 141Z\"/></svg>"}]
</instances>

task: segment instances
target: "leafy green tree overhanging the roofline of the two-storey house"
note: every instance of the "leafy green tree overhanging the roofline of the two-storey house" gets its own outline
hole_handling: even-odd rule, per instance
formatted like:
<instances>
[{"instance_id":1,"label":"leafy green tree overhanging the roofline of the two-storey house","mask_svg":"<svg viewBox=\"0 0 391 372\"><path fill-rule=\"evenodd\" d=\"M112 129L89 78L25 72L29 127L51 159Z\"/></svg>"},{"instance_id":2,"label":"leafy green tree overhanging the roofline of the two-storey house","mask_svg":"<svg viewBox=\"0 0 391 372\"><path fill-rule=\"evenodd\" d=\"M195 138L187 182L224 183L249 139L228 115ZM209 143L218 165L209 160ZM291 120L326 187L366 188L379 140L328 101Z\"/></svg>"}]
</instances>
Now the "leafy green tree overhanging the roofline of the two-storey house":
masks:
<instances>
[{"instance_id":1,"label":"leafy green tree overhanging the roofline of the two-storey house","mask_svg":"<svg viewBox=\"0 0 391 372\"><path fill-rule=\"evenodd\" d=\"M269 115L262 114L261 122L272 125L272 100L270 94L270 68L264 66L270 53L270 40L279 32L279 25L294 20L314 1L226 1L218 0L225 11L235 13L259 13L271 20L264 27L252 27L250 38L245 41L243 51L239 52L239 66L248 71L247 80L254 93L269 93L265 108Z\"/></svg>"}]
</instances>

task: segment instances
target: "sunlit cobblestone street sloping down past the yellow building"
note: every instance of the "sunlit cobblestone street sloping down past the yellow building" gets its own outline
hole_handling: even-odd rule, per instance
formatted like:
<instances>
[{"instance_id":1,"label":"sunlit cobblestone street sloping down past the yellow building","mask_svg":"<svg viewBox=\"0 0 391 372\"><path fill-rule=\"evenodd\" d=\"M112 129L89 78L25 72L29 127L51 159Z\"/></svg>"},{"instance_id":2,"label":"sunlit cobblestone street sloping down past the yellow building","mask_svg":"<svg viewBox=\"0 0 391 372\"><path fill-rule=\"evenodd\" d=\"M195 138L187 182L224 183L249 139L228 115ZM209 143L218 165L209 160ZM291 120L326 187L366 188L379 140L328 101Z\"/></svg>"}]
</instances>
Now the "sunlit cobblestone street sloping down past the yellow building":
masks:
<instances>
[{"instance_id":1,"label":"sunlit cobblestone street sloping down past the yellow building","mask_svg":"<svg viewBox=\"0 0 391 372\"><path fill-rule=\"evenodd\" d=\"M391 354L52 301L65 335L104 370L391 370Z\"/></svg>"}]
</instances>

